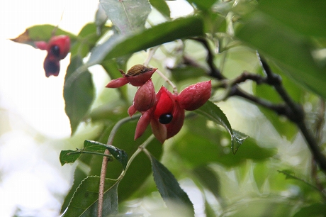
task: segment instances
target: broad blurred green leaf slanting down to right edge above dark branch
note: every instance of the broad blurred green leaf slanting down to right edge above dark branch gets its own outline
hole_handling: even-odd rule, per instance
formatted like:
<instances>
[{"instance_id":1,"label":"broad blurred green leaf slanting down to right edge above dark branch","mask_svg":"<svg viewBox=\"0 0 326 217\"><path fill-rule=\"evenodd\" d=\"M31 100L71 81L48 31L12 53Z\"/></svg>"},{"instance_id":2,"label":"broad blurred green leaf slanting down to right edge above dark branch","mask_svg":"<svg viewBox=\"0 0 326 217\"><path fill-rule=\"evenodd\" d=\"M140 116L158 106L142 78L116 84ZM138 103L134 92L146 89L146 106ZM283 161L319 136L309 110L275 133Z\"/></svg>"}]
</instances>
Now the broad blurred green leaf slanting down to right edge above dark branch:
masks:
<instances>
[{"instance_id":1,"label":"broad blurred green leaf slanting down to right edge above dark branch","mask_svg":"<svg viewBox=\"0 0 326 217\"><path fill-rule=\"evenodd\" d=\"M274 60L303 87L326 98L325 68L319 67L313 59L313 47L307 38L259 11L250 14L245 23L237 28L236 35Z\"/></svg>"}]
</instances>

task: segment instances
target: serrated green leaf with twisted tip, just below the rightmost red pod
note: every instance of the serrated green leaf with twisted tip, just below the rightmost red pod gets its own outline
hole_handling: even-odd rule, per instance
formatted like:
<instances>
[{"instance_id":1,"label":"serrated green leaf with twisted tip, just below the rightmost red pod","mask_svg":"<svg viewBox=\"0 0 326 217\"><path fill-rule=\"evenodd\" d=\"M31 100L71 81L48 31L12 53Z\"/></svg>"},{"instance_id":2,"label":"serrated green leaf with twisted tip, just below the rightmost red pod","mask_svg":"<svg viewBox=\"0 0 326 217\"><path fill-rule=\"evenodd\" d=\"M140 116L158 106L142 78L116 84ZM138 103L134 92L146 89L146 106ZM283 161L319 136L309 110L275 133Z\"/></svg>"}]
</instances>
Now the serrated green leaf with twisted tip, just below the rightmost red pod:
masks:
<instances>
[{"instance_id":1,"label":"serrated green leaf with twisted tip, just below the rightmost red pod","mask_svg":"<svg viewBox=\"0 0 326 217\"><path fill-rule=\"evenodd\" d=\"M248 136L244 133L240 133L237 130L232 130L231 125L223 111L211 101L207 101L206 104L201 106L201 108L197 109L195 112L200 113L210 121L214 121L227 129L231 135L231 150L233 154L237 152L237 149L240 147L240 145L242 145L243 141L248 138Z\"/></svg>"}]
</instances>

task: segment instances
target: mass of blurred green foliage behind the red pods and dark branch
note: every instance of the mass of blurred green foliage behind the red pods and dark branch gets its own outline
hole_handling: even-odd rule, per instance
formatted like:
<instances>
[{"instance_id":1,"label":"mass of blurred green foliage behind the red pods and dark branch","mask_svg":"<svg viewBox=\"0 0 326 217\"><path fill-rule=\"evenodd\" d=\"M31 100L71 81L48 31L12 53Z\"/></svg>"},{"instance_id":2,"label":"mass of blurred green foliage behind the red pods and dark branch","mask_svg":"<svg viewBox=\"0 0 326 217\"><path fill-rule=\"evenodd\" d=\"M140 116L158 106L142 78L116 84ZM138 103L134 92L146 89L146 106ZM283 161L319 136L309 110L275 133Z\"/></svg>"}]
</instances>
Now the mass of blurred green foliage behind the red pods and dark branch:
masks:
<instances>
[{"instance_id":1,"label":"mass of blurred green foliage behind the red pods and dark branch","mask_svg":"<svg viewBox=\"0 0 326 217\"><path fill-rule=\"evenodd\" d=\"M157 197L156 185L165 201L174 196L164 194L164 187L165 193L178 191L176 198L181 198L186 191L195 212L200 212L196 207L205 207L201 212L206 216L325 216L325 174L314 164L297 126L274 111L249 104L239 97L215 100L225 94L225 89L219 88L223 85L212 76L210 64L218 67L228 82L245 71L264 77L258 51L266 58L271 70L281 76L283 87L293 101L305 109L310 130L323 133L323 125L319 129L316 126L325 116L320 101L324 104L326 97L326 2L218 0L203 4L203 1L189 0L193 13L178 19L169 17L166 1L141 1L140 4L146 8L144 11L133 11L133 6L124 7L121 2L116 1L119 9L114 13L109 7L104 7L112 24L101 26L101 35L96 35L96 25L89 23L75 37L64 85L72 133L83 140L106 143L113 126L128 115L127 109L136 89L128 86L105 89L95 96L91 74L87 70L95 64L102 65L108 76L116 79L120 76L118 69L126 70L142 63L137 62L139 60L145 62L149 55L149 64L159 66L159 70L167 74L178 89L212 79L211 100L214 101L214 104L208 102L197 113L187 113L181 132L163 146L157 140L147 145L150 156L161 159L162 164L150 157L156 169L151 167L149 156L144 152L130 163L125 177L114 186L118 188L107 194L117 194L115 202L118 206L119 199L121 215L125 212L143 213L142 206L147 207L146 212L153 216L167 214L162 199ZM147 20L151 27L144 28L144 18L150 13L147 10L149 2L157 9L155 13L162 13L165 22ZM111 1L101 0L101 3L108 6ZM132 12L136 14L133 17L142 16L139 21L128 21ZM126 19L119 20L121 13ZM38 35L45 31L48 34L50 30L49 26L38 26L30 28L30 33ZM194 42L193 37L205 38L208 48ZM145 54L146 49L150 50ZM211 61L207 58L209 54L213 55ZM83 60L86 55L90 55L89 59ZM73 79L69 80L69 77ZM157 89L166 85L156 74L153 82ZM272 104L285 103L271 85L247 81L238 87L252 97ZM97 108L92 107L95 98L103 102ZM97 127L93 138L89 135L84 138L83 131L78 130L83 121ZM151 134L148 128L145 135L134 141L135 127L135 121L121 126L111 144L124 150L129 157ZM250 138L240 143L245 135L236 133L234 128ZM232 144L231 138L237 143ZM325 140L322 137L315 139L325 150L325 145L322 145ZM75 146L80 148L81 145ZM235 155L232 152L236 152ZM80 206L80 213L85 211L91 216L96 215L96 211L91 209L96 203L97 191L91 199L84 191L95 191L98 187L101 161L102 157L98 155L78 158L74 183L62 206L62 211L67 207L69 211L64 216L74 216L72 208L85 201L88 205ZM156 182L149 178L152 170ZM106 177L117 179L121 171L119 162L113 160L108 162ZM278 171L287 171L292 179L286 179ZM158 177L162 182L157 182ZM86 185L89 180L94 182ZM180 189L175 180L181 184ZM187 188L186 183L191 183L191 187ZM111 186L113 184L108 184L106 190ZM195 189L200 191L201 199L191 196ZM188 197L182 198L181 201L187 204ZM155 201L155 206L150 201ZM112 212L108 211L115 212L116 207Z\"/></svg>"}]
</instances>

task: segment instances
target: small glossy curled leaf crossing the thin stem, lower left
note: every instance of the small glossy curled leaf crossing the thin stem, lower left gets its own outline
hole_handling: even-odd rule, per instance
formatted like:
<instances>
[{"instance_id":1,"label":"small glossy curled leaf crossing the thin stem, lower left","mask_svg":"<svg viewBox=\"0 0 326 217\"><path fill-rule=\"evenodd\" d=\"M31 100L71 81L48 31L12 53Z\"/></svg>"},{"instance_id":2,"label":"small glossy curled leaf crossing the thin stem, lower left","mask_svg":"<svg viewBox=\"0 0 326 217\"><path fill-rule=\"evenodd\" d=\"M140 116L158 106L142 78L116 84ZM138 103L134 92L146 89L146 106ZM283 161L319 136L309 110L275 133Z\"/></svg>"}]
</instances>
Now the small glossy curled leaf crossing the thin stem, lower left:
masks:
<instances>
[{"instance_id":1,"label":"small glossy curled leaf crossing the thin stem, lower left","mask_svg":"<svg viewBox=\"0 0 326 217\"><path fill-rule=\"evenodd\" d=\"M123 169L125 169L128 163L128 155L124 150L120 150L113 145L105 145L96 141L84 141L85 150L89 150L90 148L96 148L96 150L98 150L100 147L103 147L104 149L107 148L110 151L111 155L113 155L113 157L123 165Z\"/></svg>"}]
</instances>

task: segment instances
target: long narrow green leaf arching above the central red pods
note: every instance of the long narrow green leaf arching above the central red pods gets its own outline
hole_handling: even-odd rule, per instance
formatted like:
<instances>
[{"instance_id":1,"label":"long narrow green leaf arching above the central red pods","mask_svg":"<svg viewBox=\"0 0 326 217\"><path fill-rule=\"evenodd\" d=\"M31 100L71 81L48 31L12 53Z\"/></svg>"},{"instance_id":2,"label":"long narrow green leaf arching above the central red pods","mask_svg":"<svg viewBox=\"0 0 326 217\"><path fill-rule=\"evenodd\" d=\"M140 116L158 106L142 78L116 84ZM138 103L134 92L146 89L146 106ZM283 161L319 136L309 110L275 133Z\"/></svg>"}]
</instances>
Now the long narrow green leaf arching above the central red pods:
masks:
<instances>
[{"instance_id":1,"label":"long narrow green leaf arching above the central red pods","mask_svg":"<svg viewBox=\"0 0 326 217\"><path fill-rule=\"evenodd\" d=\"M106 59L122 57L176 39L199 35L203 35L203 20L200 16L179 18L128 37L113 35L92 50L87 65L100 64L105 57Z\"/></svg>"}]
</instances>

